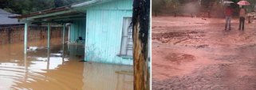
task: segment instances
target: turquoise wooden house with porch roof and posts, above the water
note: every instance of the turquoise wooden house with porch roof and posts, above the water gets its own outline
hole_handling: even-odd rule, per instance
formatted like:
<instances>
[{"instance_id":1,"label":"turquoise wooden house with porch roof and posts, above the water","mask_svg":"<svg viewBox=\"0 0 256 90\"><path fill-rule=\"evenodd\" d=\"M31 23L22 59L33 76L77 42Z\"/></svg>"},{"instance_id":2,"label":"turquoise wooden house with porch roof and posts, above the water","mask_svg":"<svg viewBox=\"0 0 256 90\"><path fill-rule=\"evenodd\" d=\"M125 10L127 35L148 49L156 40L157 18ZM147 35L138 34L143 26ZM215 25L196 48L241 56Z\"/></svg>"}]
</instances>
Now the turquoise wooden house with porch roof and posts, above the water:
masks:
<instances>
[{"instance_id":1,"label":"turquoise wooden house with porch roof and posts, above the water","mask_svg":"<svg viewBox=\"0 0 256 90\"><path fill-rule=\"evenodd\" d=\"M69 24L69 44L85 46L85 61L132 65L132 2L91 0L18 16L25 23L24 53L30 24L49 24L49 31L51 23L63 24L63 35Z\"/></svg>"}]
</instances>

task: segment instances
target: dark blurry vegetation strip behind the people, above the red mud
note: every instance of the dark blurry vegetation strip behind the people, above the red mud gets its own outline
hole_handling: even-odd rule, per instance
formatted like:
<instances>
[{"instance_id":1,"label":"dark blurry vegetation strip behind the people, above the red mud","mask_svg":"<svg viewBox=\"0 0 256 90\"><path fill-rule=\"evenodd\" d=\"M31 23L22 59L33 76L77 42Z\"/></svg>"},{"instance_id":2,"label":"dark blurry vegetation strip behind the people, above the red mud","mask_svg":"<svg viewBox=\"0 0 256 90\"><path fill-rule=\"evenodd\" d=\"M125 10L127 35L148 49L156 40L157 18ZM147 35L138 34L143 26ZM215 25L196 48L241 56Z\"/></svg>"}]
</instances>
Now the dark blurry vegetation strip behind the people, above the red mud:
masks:
<instances>
[{"instance_id":1,"label":"dark blurry vegetation strip behind the people, above the red mud","mask_svg":"<svg viewBox=\"0 0 256 90\"><path fill-rule=\"evenodd\" d=\"M222 17L224 9L223 1L226 0L152 0L152 15L176 16L176 14L181 15L184 13L195 13L201 15L211 12L211 14L219 14L213 15L215 17ZM237 3L240 0L230 1ZM247 11L254 11L256 0L247 1L250 2L250 6L246 6ZM232 5L232 7L235 11L238 11L239 9L239 6L236 4ZM238 15L238 12L235 12L234 15Z\"/></svg>"}]
</instances>

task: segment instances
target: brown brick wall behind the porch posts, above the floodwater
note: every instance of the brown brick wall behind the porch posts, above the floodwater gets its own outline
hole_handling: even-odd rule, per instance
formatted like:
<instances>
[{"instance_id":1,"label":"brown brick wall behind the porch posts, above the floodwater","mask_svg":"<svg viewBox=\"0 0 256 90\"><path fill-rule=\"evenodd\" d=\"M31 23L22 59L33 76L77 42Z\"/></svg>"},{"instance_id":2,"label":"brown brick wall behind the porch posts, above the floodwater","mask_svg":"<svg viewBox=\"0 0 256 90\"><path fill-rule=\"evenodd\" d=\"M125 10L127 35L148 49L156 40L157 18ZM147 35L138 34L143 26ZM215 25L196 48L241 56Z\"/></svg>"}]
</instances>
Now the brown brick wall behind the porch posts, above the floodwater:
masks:
<instances>
[{"instance_id":1,"label":"brown brick wall behind the porch posts, above the floodwater","mask_svg":"<svg viewBox=\"0 0 256 90\"><path fill-rule=\"evenodd\" d=\"M62 27L52 27L51 38L60 38L62 36ZM28 31L28 40L47 39L46 26L30 26ZM0 44L18 43L24 40L24 26L0 27Z\"/></svg>"}]
</instances>

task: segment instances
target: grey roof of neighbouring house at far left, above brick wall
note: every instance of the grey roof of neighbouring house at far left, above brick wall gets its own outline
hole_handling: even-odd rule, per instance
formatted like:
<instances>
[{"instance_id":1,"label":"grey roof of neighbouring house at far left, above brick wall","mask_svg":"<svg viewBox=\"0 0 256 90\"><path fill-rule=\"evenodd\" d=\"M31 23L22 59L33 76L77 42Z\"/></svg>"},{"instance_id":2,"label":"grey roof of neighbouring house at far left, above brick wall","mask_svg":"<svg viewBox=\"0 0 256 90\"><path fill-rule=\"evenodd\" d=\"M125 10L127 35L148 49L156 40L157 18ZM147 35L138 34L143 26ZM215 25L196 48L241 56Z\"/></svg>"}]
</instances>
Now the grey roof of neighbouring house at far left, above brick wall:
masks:
<instances>
[{"instance_id":1,"label":"grey roof of neighbouring house at far left, above brick wall","mask_svg":"<svg viewBox=\"0 0 256 90\"><path fill-rule=\"evenodd\" d=\"M0 9L0 26L8 26L8 25L18 25L24 24L18 22L17 18L10 18L14 17L17 14L6 12L4 9Z\"/></svg>"}]
</instances>

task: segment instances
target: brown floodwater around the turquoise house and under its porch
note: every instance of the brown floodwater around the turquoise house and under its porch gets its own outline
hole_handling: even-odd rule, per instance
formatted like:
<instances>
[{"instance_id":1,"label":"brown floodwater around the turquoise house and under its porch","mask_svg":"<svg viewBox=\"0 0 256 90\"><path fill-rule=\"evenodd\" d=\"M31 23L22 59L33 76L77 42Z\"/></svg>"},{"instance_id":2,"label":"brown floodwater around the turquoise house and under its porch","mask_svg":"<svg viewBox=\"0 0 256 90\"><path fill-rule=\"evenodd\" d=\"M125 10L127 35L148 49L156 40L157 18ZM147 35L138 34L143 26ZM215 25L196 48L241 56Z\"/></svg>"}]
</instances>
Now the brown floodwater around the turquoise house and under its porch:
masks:
<instances>
[{"instance_id":1,"label":"brown floodwater around the turquoise house and under its porch","mask_svg":"<svg viewBox=\"0 0 256 90\"><path fill-rule=\"evenodd\" d=\"M46 40L30 42L29 46L42 48L28 54L23 54L23 43L1 45L0 90L133 89L132 66L79 62L84 48L65 46L62 55L61 39L51 42L50 51Z\"/></svg>"}]
</instances>

